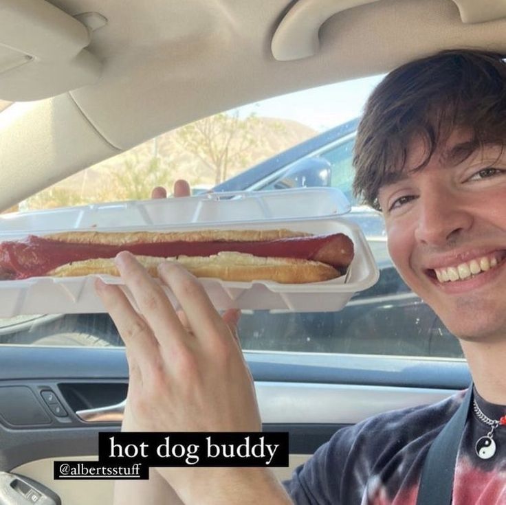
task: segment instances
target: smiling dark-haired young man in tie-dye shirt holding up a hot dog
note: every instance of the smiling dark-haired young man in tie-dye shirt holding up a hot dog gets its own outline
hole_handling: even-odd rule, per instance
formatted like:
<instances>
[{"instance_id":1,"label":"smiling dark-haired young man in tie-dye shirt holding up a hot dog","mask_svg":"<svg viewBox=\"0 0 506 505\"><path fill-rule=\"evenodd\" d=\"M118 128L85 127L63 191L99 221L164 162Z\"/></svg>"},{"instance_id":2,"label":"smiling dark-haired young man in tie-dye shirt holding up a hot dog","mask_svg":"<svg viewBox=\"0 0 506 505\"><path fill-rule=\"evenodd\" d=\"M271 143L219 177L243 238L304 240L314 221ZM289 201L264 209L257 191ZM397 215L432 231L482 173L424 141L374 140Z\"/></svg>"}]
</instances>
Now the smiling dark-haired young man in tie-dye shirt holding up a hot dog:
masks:
<instances>
[{"instance_id":1,"label":"smiling dark-haired young man in tie-dye shirt holding up a hot dog","mask_svg":"<svg viewBox=\"0 0 506 505\"><path fill-rule=\"evenodd\" d=\"M472 372L454 505L506 503L505 142L506 64L454 51L389 74L366 105L355 146L355 190L382 210L399 273L459 338ZM160 275L179 299L178 317L131 256L118 255L118 265L142 311L98 284L129 357L124 429L259 430L236 315L221 319L199 282L166 264ZM170 503L170 490L185 504L414 505L428 449L462 399L338 431L285 484L290 498L265 469L159 469L151 502L142 502ZM117 504L141 499L140 484L121 485Z\"/></svg>"}]
</instances>

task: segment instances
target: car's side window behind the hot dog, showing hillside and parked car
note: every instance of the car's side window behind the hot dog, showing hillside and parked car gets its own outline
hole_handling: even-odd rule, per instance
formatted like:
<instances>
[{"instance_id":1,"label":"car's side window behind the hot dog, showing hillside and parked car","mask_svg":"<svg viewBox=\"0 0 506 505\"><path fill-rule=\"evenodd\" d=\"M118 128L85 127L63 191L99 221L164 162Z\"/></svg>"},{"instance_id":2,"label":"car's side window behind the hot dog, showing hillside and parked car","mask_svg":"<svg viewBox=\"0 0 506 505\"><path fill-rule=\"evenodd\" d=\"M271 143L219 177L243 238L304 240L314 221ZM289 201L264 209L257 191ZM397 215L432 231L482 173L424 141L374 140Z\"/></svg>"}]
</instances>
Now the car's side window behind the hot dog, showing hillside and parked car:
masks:
<instances>
[{"instance_id":1,"label":"car's side window behind the hot dog, showing hillside and parked car","mask_svg":"<svg viewBox=\"0 0 506 505\"><path fill-rule=\"evenodd\" d=\"M243 311L243 348L460 358L458 341L395 271L381 214L351 192L357 118L378 80L294 93L204 118L87 168L21 202L19 210L147 199L155 186L170 188L179 178L190 182L194 194L243 174L246 182L236 185L241 190L340 188L352 203L346 218L362 228L380 280L336 313ZM362 88L355 109L347 108L344 91ZM322 97L329 96L340 98L334 115L330 106L322 107ZM311 117L312 110L320 115ZM122 340L107 314L19 315L0 320L0 344L122 346Z\"/></svg>"}]
</instances>

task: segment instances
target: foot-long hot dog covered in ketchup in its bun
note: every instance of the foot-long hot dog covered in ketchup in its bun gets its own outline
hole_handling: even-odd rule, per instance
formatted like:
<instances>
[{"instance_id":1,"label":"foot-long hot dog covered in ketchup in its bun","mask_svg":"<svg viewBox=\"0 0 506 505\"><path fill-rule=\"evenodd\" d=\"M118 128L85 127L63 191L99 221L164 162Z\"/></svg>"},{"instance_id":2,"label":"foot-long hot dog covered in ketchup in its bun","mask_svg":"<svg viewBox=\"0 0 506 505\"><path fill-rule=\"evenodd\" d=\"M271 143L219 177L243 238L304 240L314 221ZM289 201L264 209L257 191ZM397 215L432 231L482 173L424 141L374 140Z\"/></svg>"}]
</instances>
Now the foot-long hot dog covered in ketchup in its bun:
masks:
<instances>
[{"instance_id":1,"label":"foot-long hot dog covered in ketchup in its bun","mask_svg":"<svg viewBox=\"0 0 506 505\"><path fill-rule=\"evenodd\" d=\"M0 243L3 278L118 275L113 258L130 251L156 276L166 258L199 277L319 282L339 277L353 259L344 234L314 236L274 230L198 232L67 232Z\"/></svg>"}]
</instances>

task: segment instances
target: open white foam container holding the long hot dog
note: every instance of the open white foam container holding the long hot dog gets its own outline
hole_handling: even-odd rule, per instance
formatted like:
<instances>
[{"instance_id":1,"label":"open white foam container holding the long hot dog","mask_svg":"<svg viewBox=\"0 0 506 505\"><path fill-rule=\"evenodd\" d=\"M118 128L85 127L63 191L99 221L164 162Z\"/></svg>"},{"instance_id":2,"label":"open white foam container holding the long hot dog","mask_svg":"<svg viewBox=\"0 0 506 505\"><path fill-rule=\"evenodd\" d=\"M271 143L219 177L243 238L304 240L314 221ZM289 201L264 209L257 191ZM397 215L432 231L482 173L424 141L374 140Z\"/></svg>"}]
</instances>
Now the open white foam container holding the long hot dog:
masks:
<instances>
[{"instance_id":1,"label":"open white foam container holding the long hot dog","mask_svg":"<svg viewBox=\"0 0 506 505\"><path fill-rule=\"evenodd\" d=\"M232 197L232 198L231 198ZM243 308L295 312L338 311L351 296L371 287L379 272L360 228L342 216L349 203L334 188L272 192L206 194L198 197L69 207L25 212L0 218L0 241L69 230L120 232L143 230L287 228L312 234L345 233L355 246L346 278L311 284L224 282L201 279L218 310ZM94 278L39 277L0 282L0 317L21 314L101 313L104 307L94 291ZM119 284L122 280L98 276ZM179 302L164 287L174 306ZM133 301L131 299L131 301Z\"/></svg>"}]
</instances>

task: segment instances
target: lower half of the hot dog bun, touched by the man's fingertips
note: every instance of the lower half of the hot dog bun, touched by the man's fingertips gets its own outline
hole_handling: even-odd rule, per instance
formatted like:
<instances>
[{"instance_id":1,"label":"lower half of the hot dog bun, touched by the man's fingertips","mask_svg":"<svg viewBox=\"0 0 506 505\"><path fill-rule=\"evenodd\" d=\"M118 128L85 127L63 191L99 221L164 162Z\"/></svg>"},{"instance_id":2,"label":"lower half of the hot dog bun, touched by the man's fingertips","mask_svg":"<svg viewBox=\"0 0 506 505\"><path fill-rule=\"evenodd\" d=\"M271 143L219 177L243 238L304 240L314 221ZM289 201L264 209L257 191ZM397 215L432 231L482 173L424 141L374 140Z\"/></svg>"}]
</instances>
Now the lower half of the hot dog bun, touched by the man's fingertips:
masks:
<instances>
[{"instance_id":1,"label":"lower half of the hot dog bun, touched by the man's fingertips","mask_svg":"<svg viewBox=\"0 0 506 505\"><path fill-rule=\"evenodd\" d=\"M157 266L166 260L177 261L197 277L216 277L221 280L250 282L253 280L272 280L284 284L303 284L322 282L340 276L340 272L330 265L311 260L294 258L260 258L252 254L223 251L212 256L178 256L177 258L157 258L136 256L153 277L158 276ZM87 276L104 273L119 276L114 260L98 258L62 265L47 275L54 277Z\"/></svg>"}]
</instances>

